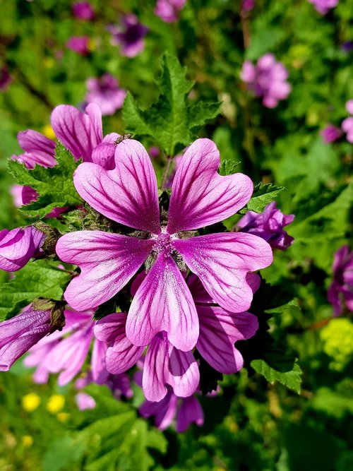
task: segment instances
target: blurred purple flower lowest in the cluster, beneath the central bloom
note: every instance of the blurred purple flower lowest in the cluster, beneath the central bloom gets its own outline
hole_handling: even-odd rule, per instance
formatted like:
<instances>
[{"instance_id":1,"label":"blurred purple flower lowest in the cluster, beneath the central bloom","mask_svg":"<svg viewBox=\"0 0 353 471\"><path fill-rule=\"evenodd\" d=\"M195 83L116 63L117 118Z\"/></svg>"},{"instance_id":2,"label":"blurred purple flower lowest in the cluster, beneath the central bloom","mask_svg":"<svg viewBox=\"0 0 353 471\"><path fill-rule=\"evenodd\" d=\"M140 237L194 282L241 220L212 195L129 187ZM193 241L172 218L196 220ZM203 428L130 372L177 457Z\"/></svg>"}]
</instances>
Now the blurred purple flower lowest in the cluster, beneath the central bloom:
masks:
<instances>
[{"instance_id":1,"label":"blurred purple flower lowest in the cluster, beneath the central bloom","mask_svg":"<svg viewBox=\"0 0 353 471\"><path fill-rule=\"evenodd\" d=\"M203 410L195 398L178 398L169 389L167 395L159 402L146 400L138 410L142 417L155 417L155 427L165 430L172 424L174 417L177 417L177 432L182 433L189 429L194 422L198 427L203 425Z\"/></svg>"}]
</instances>

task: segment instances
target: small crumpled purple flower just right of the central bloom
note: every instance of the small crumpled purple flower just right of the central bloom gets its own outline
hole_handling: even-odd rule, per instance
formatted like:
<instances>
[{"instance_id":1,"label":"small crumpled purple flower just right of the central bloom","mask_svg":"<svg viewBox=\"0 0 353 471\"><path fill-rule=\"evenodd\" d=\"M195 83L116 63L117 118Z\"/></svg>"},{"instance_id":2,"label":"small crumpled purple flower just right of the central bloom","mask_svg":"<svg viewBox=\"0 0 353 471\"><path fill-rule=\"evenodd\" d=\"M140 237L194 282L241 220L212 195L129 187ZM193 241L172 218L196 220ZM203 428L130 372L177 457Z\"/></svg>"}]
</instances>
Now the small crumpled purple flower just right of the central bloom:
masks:
<instances>
[{"instance_id":1,"label":"small crumpled purple flower just right of the central bloom","mask_svg":"<svg viewBox=\"0 0 353 471\"><path fill-rule=\"evenodd\" d=\"M240 227L241 232L262 237L274 249L286 250L292 245L294 239L283 230L283 227L293 220L294 215L283 214L276 208L276 203L273 201L265 207L263 213L248 211L237 222L237 226Z\"/></svg>"}]
</instances>

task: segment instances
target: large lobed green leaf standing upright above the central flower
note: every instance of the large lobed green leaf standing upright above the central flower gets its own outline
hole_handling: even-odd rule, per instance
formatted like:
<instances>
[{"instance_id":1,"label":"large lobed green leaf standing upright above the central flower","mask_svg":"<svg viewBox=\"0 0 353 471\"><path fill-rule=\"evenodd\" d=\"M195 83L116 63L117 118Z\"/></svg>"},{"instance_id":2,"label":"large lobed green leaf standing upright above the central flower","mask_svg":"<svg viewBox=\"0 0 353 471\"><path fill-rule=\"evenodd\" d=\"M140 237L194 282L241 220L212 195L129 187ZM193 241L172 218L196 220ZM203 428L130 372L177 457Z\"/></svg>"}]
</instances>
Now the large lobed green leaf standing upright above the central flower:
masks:
<instances>
[{"instance_id":1,"label":"large lobed green leaf standing upright above the central flower","mask_svg":"<svg viewBox=\"0 0 353 471\"><path fill-rule=\"evenodd\" d=\"M186 69L169 53L162 56L161 68L162 73L156 81L160 88L157 101L148 109L140 109L128 93L123 118L126 131L150 136L166 155L174 156L177 150L191 143L192 131L217 116L220 103L188 105L186 97L193 82L186 79Z\"/></svg>"}]
</instances>

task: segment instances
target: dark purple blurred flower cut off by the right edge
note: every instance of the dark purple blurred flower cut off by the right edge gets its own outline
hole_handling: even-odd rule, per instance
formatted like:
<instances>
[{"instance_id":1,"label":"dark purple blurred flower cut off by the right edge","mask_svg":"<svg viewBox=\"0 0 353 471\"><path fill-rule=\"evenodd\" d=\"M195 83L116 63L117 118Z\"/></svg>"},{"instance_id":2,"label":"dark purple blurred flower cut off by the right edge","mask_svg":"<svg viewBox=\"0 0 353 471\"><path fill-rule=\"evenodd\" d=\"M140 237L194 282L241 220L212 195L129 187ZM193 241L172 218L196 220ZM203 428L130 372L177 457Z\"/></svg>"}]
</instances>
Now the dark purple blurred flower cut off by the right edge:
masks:
<instances>
[{"instance_id":1,"label":"dark purple blurred flower cut off by the right edge","mask_svg":"<svg viewBox=\"0 0 353 471\"><path fill-rule=\"evenodd\" d=\"M334 316L340 316L345 306L353 312L353 251L347 245L335 252L328 301L333 305Z\"/></svg>"}]
</instances>

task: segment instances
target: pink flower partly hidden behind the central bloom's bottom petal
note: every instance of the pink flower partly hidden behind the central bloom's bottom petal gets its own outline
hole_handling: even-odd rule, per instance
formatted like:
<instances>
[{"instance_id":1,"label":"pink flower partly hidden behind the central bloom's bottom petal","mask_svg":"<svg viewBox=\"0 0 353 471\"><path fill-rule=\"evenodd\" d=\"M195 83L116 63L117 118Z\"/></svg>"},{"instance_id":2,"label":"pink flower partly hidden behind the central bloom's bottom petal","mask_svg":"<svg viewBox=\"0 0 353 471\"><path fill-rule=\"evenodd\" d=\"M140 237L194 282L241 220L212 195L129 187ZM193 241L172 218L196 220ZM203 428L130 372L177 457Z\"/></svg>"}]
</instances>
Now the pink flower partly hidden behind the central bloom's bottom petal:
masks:
<instances>
[{"instance_id":1,"label":"pink flower partly hidden behind the central bloom's bottom petal","mask_svg":"<svg viewBox=\"0 0 353 471\"><path fill-rule=\"evenodd\" d=\"M138 287L145 280L140 273L131 286L131 294L136 295ZM258 289L260 278L248 273L246 281L253 292ZM256 316L248 312L231 313L220 308L205 291L196 275L190 275L187 285L193 296L200 323L200 333L196 348L201 356L223 374L234 374L243 366L243 358L234 347L237 340L251 338L258 328ZM106 365L112 374L127 371L140 360L144 347L136 347L126 337L126 314L116 313L105 316L95 326L95 336L107 342ZM175 348L162 331L155 335L145 354L142 388L145 398L160 401L172 388L180 398L187 398L198 388L200 374L193 352L183 352Z\"/></svg>"}]
</instances>

